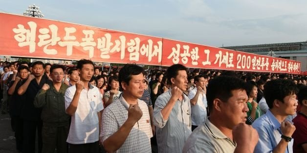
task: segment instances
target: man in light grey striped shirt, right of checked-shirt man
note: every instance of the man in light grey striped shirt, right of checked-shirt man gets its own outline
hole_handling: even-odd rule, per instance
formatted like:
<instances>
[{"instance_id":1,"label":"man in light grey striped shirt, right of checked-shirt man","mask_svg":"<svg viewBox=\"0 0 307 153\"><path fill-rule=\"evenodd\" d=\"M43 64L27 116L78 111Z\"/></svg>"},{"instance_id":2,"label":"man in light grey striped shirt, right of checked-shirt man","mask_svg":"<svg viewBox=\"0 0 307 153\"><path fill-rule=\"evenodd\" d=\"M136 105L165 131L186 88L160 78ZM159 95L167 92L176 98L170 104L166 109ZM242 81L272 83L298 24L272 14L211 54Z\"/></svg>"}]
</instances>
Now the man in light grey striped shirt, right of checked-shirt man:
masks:
<instances>
[{"instance_id":1,"label":"man in light grey striped shirt, right of checked-shirt man","mask_svg":"<svg viewBox=\"0 0 307 153\"><path fill-rule=\"evenodd\" d=\"M166 71L172 89L157 97L154 125L159 153L181 153L191 131L190 99L183 94L188 85L186 67L170 66Z\"/></svg>"}]
</instances>

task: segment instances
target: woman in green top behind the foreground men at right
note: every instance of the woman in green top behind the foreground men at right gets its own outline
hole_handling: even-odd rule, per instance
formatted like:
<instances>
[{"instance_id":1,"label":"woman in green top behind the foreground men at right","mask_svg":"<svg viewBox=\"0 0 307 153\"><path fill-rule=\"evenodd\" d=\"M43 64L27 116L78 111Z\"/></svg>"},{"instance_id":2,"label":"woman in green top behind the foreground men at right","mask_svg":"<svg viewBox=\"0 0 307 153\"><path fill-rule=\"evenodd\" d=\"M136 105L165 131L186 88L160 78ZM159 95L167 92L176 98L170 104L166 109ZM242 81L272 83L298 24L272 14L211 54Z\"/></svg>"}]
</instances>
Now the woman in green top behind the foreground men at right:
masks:
<instances>
[{"instance_id":1,"label":"woman in green top behind the foreground men at right","mask_svg":"<svg viewBox=\"0 0 307 153\"><path fill-rule=\"evenodd\" d=\"M261 110L258 107L258 103L255 101L258 94L256 82L250 80L246 82L246 85L246 94L248 96L246 102L248 107L246 124L251 125L258 117L260 117Z\"/></svg>"}]
</instances>

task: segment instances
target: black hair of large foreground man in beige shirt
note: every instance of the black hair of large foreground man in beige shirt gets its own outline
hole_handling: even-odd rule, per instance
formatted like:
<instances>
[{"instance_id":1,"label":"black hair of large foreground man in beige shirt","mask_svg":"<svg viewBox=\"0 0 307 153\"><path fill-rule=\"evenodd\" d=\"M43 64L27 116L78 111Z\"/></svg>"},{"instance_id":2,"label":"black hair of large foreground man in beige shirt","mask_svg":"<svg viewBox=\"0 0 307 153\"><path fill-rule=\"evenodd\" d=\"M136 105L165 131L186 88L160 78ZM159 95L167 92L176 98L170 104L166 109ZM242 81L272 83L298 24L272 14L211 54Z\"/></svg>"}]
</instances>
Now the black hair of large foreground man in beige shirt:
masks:
<instances>
[{"instance_id":1,"label":"black hair of large foreground man in beige shirt","mask_svg":"<svg viewBox=\"0 0 307 153\"><path fill-rule=\"evenodd\" d=\"M217 76L209 80L207 87L207 102L209 110L213 109L213 100L219 98L223 102L227 102L232 97L233 90L246 90L246 83L233 76Z\"/></svg>"}]
</instances>

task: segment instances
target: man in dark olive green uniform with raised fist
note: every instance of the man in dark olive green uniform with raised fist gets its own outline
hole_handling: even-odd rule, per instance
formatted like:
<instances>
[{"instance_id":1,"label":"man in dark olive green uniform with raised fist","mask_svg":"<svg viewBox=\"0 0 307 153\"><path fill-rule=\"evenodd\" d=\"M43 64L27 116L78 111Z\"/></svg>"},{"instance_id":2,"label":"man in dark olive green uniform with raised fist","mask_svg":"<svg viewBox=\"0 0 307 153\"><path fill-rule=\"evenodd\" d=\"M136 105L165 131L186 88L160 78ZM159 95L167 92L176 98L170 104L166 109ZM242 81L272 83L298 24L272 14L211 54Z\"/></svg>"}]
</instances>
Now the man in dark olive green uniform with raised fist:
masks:
<instances>
[{"instance_id":1,"label":"man in dark olive green uniform with raised fist","mask_svg":"<svg viewBox=\"0 0 307 153\"><path fill-rule=\"evenodd\" d=\"M52 83L45 83L34 99L34 106L42 109L43 153L66 153L69 115L65 112L65 91L68 86L62 83L64 67L53 65L50 68Z\"/></svg>"}]
</instances>

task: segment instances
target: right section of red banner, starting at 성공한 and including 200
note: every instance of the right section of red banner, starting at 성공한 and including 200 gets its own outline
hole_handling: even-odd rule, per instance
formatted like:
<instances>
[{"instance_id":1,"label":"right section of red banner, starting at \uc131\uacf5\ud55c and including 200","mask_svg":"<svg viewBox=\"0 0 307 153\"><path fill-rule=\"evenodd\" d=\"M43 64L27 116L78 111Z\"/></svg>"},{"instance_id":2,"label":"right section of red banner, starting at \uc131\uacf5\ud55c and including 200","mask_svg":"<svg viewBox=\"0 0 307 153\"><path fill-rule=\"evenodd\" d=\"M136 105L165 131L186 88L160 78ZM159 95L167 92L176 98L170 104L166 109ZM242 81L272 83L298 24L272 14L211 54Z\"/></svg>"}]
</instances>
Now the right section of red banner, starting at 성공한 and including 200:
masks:
<instances>
[{"instance_id":1,"label":"right section of red banner, starting at \uc131\uacf5\ud55c and including 200","mask_svg":"<svg viewBox=\"0 0 307 153\"><path fill-rule=\"evenodd\" d=\"M301 72L301 62L299 61L170 39L163 39L162 50L162 65L166 66L179 63L187 67L205 69L293 74Z\"/></svg>"}]
</instances>

